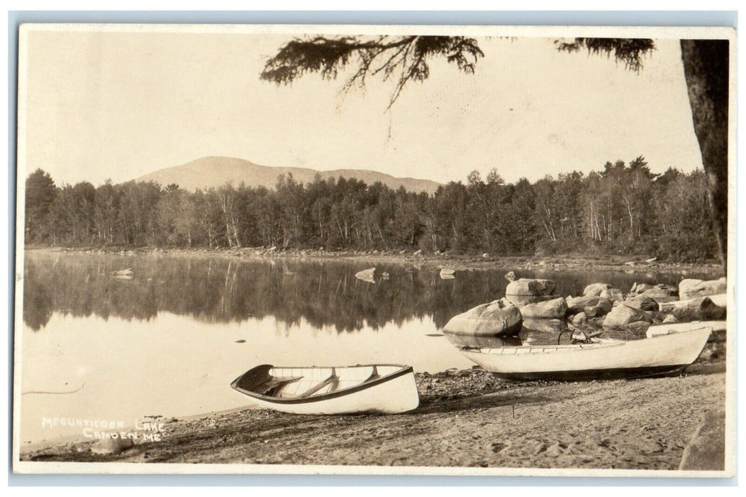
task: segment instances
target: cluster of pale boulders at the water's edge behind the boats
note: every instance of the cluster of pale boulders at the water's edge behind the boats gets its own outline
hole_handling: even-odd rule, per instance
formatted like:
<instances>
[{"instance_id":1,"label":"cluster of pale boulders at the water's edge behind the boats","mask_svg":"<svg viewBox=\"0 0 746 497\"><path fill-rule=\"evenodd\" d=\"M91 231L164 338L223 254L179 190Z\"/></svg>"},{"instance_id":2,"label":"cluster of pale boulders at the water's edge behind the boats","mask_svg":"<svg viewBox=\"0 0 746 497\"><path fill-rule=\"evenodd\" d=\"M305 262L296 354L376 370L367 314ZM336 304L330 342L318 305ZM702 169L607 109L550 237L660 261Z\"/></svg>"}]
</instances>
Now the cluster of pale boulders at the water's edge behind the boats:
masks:
<instances>
[{"instance_id":1,"label":"cluster of pale boulders at the water's edge behind the boats","mask_svg":"<svg viewBox=\"0 0 746 497\"><path fill-rule=\"evenodd\" d=\"M472 336L514 336L527 320L589 320L604 328L646 327L656 323L723 319L726 283L720 280L682 280L679 287L635 283L626 297L607 283L586 286L583 295L560 297L551 280L516 279L513 271L505 297L451 318L444 330Z\"/></svg>"}]
</instances>

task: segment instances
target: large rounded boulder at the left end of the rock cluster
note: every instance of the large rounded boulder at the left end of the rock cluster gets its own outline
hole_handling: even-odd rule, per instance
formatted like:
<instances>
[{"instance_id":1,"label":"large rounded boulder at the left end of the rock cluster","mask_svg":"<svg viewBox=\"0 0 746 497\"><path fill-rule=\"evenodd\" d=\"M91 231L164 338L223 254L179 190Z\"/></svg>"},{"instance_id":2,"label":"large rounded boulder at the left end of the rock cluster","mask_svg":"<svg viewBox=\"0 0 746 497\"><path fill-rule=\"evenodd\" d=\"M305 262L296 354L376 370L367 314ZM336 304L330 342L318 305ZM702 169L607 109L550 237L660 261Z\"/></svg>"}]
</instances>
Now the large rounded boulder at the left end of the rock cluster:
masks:
<instances>
[{"instance_id":1,"label":"large rounded boulder at the left end of the rock cluster","mask_svg":"<svg viewBox=\"0 0 746 497\"><path fill-rule=\"evenodd\" d=\"M518 307L506 299L494 300L455 315L443 331L459 335L510 336L521 331L523 317Z\"/></svg>"}]
</instances>

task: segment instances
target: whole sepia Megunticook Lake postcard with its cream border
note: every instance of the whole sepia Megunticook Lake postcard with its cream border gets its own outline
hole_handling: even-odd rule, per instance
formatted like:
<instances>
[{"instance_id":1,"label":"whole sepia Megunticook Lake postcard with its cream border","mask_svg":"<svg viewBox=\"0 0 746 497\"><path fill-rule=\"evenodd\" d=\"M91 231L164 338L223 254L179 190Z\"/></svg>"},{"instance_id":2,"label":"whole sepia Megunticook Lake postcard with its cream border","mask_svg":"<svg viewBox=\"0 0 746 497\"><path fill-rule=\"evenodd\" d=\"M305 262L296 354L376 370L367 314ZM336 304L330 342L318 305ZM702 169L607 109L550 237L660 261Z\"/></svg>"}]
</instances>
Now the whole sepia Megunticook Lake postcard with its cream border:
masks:
<instances>
[{"instance_id":1,"label":"whole sepia Megunticook Lake postcard with its cream border","mask_svg":"<svg viewBox=\"0 0 746 497\"><path fill-rule=\"evenodd\" d=\"M736 31L19 33L13 469L734 475Z\"/></svg>"}]
</instances>

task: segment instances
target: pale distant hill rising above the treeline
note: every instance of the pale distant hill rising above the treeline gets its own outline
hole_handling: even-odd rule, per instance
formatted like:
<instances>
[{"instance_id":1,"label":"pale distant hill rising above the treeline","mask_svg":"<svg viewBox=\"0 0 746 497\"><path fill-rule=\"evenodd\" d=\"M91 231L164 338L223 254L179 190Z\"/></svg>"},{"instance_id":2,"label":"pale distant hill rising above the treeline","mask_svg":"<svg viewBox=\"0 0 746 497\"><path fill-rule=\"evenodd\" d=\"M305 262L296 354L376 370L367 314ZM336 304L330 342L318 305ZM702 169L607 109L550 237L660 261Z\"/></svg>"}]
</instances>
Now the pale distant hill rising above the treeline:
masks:
<instances>
[{"instance_id":1,"label":"pale distant hill rising above the treeline","mask_svg":"<svg viewBox=\"0 0 746 497\"><path fill-rule=\"evenodd\" d=\"M292 177L304 184L312 182L316 174L322 178L328 177L360 179L368 185L380 181L389 188L404 186L407 191L427 191L433 193L440 183L428 179L395 178L389 174L376 173L371 170L336 169L318 171L305 167L270 167L260 166L240 158L232 157L203 157L196 161L187 162L181 166L166 167L154 173L145 174L135 181L154 181L162 186L175 183L184 190L194 191L197 188L210 188L233 182L239 185L244 182L247 186L266 186L275 188L280 174L292 173Z\"/></svg>"}]
</instances>

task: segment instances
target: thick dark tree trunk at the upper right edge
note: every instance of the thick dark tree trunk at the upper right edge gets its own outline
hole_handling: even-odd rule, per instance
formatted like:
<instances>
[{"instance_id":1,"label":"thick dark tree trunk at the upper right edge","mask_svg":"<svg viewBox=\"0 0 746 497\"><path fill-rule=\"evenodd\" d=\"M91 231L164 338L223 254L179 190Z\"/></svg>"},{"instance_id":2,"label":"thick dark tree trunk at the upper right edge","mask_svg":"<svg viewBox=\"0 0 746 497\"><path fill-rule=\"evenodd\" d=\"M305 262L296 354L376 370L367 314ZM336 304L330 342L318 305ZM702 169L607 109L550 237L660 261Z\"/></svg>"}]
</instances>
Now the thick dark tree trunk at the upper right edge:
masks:
<instances>
[{"instance_id":1,"label":"thick dark tree trunk at the upper right edge","mask_svg":"<svg viewBox=\"0 0 746 497\"><path fill-rule=\"evenodd\" d=\"M681 40L689 105L724 271L728 250L728 45L728 40Z\"/></svg>"}]
</instances>

